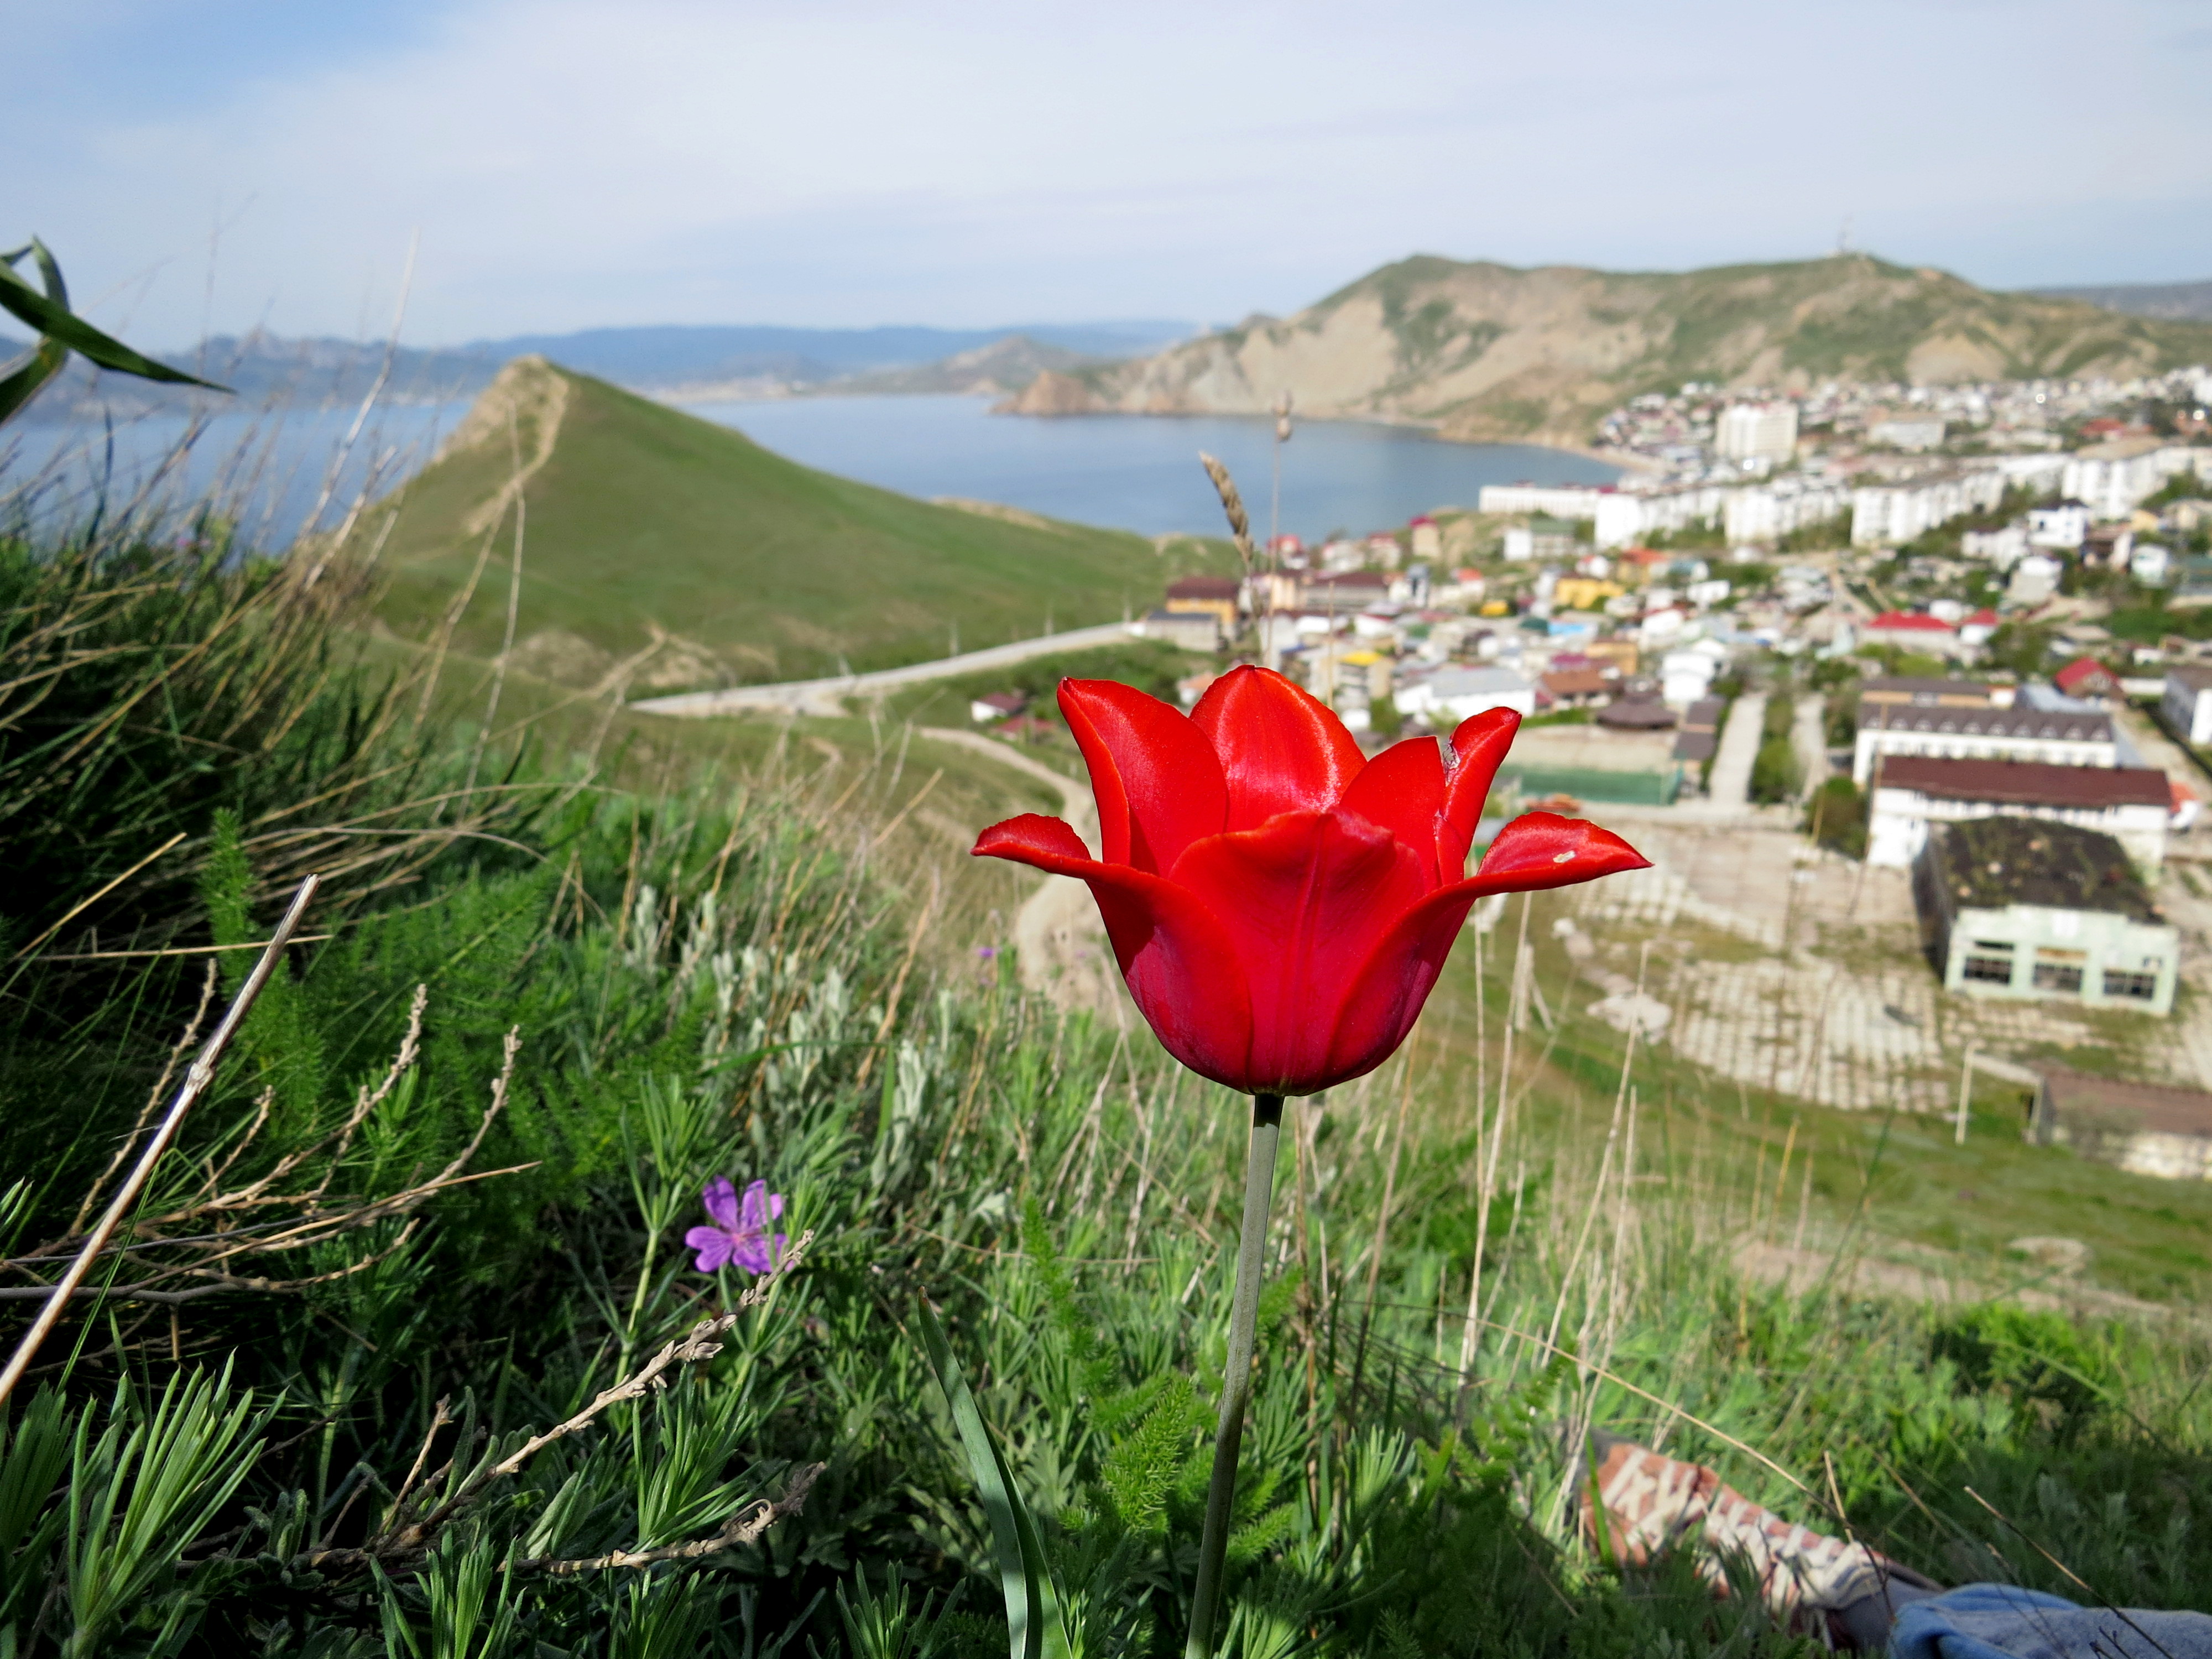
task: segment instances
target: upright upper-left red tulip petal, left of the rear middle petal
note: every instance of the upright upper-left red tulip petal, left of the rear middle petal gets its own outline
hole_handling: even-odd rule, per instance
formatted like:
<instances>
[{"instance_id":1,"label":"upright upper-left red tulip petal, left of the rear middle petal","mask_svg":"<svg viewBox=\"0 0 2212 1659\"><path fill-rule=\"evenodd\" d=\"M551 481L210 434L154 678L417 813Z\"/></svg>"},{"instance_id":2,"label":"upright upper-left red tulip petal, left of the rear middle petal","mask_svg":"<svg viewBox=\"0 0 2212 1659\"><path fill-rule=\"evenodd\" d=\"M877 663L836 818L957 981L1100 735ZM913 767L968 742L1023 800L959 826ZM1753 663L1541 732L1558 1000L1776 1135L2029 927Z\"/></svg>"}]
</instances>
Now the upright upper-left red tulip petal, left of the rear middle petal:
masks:
<instances>
[{"instance_id":1,"label":"upright upper-left red tulip petal, left of the rear middle petal","mask_svg":"<svg viewBox=\"0 0 2212 1659\"><path fill-rule=\"evenodd\" d=\"M1104 863L1161 876L1192 841L1221 834L1221 761L1179 708L1113 679L1062 679L1060 712L1091 768Z\"/></svg>"}]
</instances>

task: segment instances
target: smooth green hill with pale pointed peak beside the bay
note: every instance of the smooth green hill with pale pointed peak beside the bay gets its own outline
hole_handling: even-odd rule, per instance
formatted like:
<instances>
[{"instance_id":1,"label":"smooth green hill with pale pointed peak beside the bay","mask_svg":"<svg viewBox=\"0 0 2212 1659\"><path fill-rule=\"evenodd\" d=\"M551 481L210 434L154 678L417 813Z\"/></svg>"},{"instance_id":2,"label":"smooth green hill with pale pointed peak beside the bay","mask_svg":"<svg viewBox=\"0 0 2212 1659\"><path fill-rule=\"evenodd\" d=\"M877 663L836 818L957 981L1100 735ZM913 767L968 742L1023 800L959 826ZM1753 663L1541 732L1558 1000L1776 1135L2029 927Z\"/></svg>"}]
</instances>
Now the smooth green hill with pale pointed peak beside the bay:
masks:
<instances>
[{"instance_id":1,"label":"smooth green hill with pale pointed peak beside the bay","mask_svg":"<svg viewBox=\"0 0 2212 1659\"><path fill-rule=\"evenodd\" d=\"M571 686L799 679L1113 622L1221 560L989 504L931 504L799 467L679 409L518 358L438 458L369 509L380 619Z\"/></svg>"}]
</instances>

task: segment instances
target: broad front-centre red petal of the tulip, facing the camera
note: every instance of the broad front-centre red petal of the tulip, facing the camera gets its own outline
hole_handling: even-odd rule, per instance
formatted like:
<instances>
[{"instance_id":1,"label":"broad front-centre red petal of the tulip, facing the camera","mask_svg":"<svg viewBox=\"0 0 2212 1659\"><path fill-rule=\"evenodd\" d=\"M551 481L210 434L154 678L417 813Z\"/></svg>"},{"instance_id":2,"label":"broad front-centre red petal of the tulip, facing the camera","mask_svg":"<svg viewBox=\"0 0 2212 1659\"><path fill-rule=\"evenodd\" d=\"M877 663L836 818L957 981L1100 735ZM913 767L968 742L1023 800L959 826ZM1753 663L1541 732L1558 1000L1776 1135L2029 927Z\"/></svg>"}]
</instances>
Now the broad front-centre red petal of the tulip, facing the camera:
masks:
<instances>
[{"instance_id":1,"label":"broad front-centre red petal of the tulip, facing the camera","mask_svg":"<svg viewBox=\"0 0 2212 1659\"><path fill-rule=\"evenodd\" d=\"M1252 987L1248 1088L1327 1086L1336 1009L1376 938L1429 889L1422 865L1387 830L1334 812L1285 812L1181 856L1175 885L1221 918Z\"/></svg>"}]
</instances>

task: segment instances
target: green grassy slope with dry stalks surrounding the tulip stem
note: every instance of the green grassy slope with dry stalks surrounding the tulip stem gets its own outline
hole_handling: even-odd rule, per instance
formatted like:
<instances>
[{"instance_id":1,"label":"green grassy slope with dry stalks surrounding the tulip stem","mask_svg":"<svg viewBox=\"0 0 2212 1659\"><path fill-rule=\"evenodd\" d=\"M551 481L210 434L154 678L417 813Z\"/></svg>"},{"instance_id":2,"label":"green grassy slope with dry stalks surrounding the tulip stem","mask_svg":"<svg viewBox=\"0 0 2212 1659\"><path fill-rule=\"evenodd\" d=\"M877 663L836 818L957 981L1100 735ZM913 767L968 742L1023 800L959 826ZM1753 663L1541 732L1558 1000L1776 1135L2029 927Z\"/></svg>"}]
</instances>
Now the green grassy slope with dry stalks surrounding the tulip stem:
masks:
<instances>
[{"instance_id":1,"label":"green grassy slope with dry stalks surrounding the tulip stem","mask_svg":"<svg viewBox=\"0 0 2212 1659\"><path fill-rule=\"evenodd\" d=\"M170 637L226 615L170 584ZM144 602L159 611L161 591ZM319 708L319 661L272 664L257 706ZM372 657L369 688L394 661ZM100 670L62 679L95 688ZM929 1296L1084 1650L1179 1652L1245 1106L1141 1026L1022 993L1018 964L978 958L969 922L947 920L971 902L949 883L982 860L925 814L967 834L1031 785L989 757L962 770L967 750L931 752L883 717L653 726L515 675L484 728L489 668L447 657L440 672L407 734L420 781L469 794L476 774L476 792L522 787L524 805L498 838L456 838L358 894L248 1022L157 1177L146 1214L168 1221L113 1261L126 1285L173 1267L166 1283L212 1294L86 1301L44 1352L44 1391L11 1400L0 1644L24 1659L1004 1652L991 1526L914 1340ZM228 708L221 686L201 692ZM95 697L80 708L97 719ZM170 734L126 723L122 741L153 783L190 776ZM228 799L294 790L290 743L241 750ZM192 878L184 898L122 894L102 936L159 900L175 940L259 938L281 847L226 827L223 799L142 799L173 801ZM29 807L0 821L0 845L33 823ZM325 823L327 843L367 827ZM62 867L49 905L97 874ZM1020 872L984 874L1006 900L1029 891ZM1834 1482L1856 1535L1940 1577L2066 1584L1973 1486L2121 1604L2185 1604L2212 1582L2212 1533L2192 1524L2212 1347L2188 1316L2212 1194L2026 1148L1995 1088L1953 1148L1947 1124L1794 1108L1663 1046L1624 1064L1551 938L1562 905L1531 907L1562 1018L1517 1033L1486 1230L1504 931L1486 982L1462 942L1400 1060L1290 1108L1230 1652L1803 1652L1756 1604L1710 1601L1688 1562L1606 1566L1559 1504L1557 1429L1588 1422L1666 1433L1809 1524L1840 1524ZM0 1000L9 1259L66 1241L104 1190L206 960L64 962L80 936L64 942ZM234 958L228 982L241 971ZM416 987L420 1055L345 1135ZM84 1013L55 1029L64 993ZM425 1194L418 1228L372 1214L312 1248L239 1228L361 1214L442 1168L482 1119L509 1031L504 1104L467 1166L484 1179ZM1739 1276L1743 1241L1796 1237L1807 1157L1823 1256L1944 1252L2002 1290L2026 1276L2008 1239L2066 1232L2097 1252L2097 1285L2177 1312ZM476 1480L734 1301L743 1274L699 1274L681 1243L712 1175L785 1194L785 1230L814 1230L805 1265L666 1391ZM237 1245L221 1259L234 1283L184 1272ZM1489 1323L1462 1367L1478 1261ZM38 1279L35 1261L11 1272ZM0 1345L27 1312L0 1301ZM150 1464L133 1451L148 1444ZM812 1464L805 1509L757 1542L544 1566L708 1542ZM409 1511L403 1491L429 1498ZM407 1542L409 1513L427 1546Z\"/></svg>"}]
</instances>

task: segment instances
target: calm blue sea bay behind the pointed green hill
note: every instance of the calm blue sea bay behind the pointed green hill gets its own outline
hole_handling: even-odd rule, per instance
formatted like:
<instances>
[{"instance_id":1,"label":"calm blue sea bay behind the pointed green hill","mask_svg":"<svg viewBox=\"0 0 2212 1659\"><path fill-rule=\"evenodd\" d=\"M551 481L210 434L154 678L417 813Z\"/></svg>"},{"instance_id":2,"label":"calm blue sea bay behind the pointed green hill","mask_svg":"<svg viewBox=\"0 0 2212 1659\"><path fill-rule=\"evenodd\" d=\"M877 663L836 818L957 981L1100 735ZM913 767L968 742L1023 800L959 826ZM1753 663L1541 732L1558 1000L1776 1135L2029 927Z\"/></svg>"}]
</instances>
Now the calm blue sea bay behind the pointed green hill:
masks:
<instances>
[{"instance_id":1,"label":"calm blue sea bay behind the pointed green hill","mask_svg":"<svg viewBox=\"0 0 2212 1659\"><path fill-rule=\"evenodd\" d=\"M1281 447L1272 422L1239 416L995 416L984 398L872 396L701 403L688 409L801 465L920 498L1004 502L1046 518L1221 533L1199 451L1228 462L1252 529L1307 540L1473 507L1482 484L1610 482L1617 467L1535 445L1444 442L1418 427L1301 420ZM84 520L139 502L175 518L204 502L261 549L343 520L363 489L389 491L436 453L467 403L226 409L29 425L0 451L0 518ZM358 429L356 429L358 422ZM190 442L186 442L190 440Z\"/></svg>"}]
</instances>

